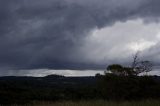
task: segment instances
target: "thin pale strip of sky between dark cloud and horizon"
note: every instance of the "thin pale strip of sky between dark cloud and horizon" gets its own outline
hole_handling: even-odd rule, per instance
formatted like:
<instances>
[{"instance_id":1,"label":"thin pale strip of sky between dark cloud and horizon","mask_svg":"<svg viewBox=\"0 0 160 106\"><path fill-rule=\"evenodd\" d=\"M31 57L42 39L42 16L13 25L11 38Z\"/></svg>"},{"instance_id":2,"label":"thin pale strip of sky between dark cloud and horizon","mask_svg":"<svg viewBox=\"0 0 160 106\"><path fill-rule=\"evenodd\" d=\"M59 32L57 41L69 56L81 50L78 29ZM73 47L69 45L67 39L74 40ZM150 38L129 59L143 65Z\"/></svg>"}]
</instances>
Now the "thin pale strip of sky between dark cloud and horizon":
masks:
<instances>
[{"instance_id":1,"label":"thin pale strip of sky between dark cloud and horizon","mask_svg":"<svg viewBox=\"0 0 160 106\"><path fill-rule=\"evenodd\" d=\"M82 77L82 76L95 76L97 73L104 75L105 70L50 70L50 69L35 69L35 70L19 70L17 73L8 73L3 76L34 76L34 77L44 77L51 74L63 75L66 77ZM11 71L13 72L13 71ZM141 75L146 73L142 73ZM160 71L154 69L148 72L147 75L158 75L160 76Z\"/></svg>"}]
</instances>

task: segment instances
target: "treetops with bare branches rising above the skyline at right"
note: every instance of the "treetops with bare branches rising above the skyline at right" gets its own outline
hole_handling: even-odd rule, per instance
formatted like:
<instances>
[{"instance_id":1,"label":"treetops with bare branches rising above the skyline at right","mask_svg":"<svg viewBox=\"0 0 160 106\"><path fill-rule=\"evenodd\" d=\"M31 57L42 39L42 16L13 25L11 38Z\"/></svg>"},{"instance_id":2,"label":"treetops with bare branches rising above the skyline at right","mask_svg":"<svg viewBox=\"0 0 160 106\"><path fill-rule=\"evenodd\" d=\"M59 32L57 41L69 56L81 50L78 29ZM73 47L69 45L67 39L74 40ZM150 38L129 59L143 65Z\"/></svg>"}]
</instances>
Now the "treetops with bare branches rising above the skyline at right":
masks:
<instances>
[{"instance_id":1,"label":"treetops with bare branches rising above the skyline at right","mask_svg":"<svg viewBox=\"0 0 160 106\"><path fill-rule=\"evenodd\" d=\"M120 64L112 64L107 67L105 73L111 72L118 76L137 76L140 73L152 71L152 63L148 60L139 60L138 52L133 57L133 62L130 67L122 66Z\"/></svg>"}]
</instances>

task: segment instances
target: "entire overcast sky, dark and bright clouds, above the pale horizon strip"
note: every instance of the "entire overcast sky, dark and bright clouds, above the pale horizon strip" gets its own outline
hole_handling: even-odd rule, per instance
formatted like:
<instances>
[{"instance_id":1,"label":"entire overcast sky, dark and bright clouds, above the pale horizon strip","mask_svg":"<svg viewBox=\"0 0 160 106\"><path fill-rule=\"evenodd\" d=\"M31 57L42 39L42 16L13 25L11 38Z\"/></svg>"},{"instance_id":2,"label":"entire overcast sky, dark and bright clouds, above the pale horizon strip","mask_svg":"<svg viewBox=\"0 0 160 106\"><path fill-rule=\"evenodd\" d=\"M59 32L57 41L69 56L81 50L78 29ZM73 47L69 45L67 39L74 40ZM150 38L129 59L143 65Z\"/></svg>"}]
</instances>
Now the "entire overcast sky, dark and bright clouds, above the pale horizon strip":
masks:
<instances>
[{"instance_id":1,"label":"entire overcast sky, dark and bright clouds, above the pale horizon strip","mask_svg":"<svg viewBox=\"0 0 160 106\"><path fill-rule=\"evenodd\" d=\"M159 66L159 21L160 0L1 0L0 75L104 70L136 51Z\"/></svg>"}]
</instances>

